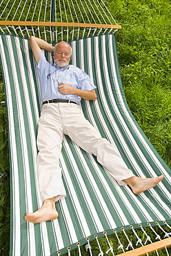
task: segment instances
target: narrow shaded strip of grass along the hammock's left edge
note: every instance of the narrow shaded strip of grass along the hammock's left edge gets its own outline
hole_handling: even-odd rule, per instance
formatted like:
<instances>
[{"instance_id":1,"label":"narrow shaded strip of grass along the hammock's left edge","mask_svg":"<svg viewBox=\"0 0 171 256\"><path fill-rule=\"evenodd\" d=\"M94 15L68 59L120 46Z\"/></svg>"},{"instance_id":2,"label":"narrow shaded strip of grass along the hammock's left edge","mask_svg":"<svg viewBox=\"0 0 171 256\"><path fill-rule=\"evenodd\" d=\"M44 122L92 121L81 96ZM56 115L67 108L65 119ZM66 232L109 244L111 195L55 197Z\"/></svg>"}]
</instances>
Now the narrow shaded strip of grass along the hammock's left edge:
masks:
<instances>
[{"instance_id":1,"label":"narrow shaded strip of grass along the hammock's left edge","mask_svg":"<svg viewBox=\"0 0 171 256\"><path fill-rule=\"evenodd\" d=\"M0 75L0 79L2 77ZM4 100L0 83L0 100ZM6 108L0 107L0 255L8 255L10 240L10 177Z\"/></svg>"}]
</instances>

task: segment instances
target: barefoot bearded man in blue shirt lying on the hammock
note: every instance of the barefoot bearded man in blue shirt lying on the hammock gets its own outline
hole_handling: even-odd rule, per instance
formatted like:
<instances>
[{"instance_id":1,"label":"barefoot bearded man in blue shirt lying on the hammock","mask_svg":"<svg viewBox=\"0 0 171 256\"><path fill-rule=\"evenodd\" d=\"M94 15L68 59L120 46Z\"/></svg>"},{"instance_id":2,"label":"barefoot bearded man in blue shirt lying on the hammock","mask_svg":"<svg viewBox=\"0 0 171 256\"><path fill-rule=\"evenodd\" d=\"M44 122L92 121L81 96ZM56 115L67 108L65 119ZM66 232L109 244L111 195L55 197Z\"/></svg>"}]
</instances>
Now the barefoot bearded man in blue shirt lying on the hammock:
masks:
<instances>
[{"instance_id":1,"label":"barefoot bearded man in blue shirt lying on the hammock","mask_svg":"<svg viewBox=\"0 0 171 256\"><path fill-rule=\"evenodd\" d=\"M83 116L79 102L97 100L96 86L76 66L69 65L71 47L66 42L51 46L37 37L30 37L30 46L37 63L43 106L38 122L37 172L43 205L26 214L26 221L40 223L58 217L55 201L66 196L61 179L59 157L63 134L79 147L97 156L119 185L129 185L134 194L153 188L163 176L142 179L134 176L123 162L117 148L101 138L99 132ZM54 64L46 61L41 49L53 53Z\"/></svg>"}]
</instances>

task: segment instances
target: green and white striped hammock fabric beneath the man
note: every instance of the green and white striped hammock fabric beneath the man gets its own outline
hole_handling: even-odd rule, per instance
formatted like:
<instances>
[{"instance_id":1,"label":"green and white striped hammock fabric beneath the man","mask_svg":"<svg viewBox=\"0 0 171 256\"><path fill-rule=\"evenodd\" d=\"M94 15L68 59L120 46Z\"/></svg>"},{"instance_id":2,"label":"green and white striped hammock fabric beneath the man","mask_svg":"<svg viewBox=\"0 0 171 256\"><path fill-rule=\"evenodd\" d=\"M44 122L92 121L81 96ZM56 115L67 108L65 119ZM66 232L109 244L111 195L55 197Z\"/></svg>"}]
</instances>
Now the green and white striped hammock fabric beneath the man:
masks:
<instances>
[{"instance_id":1,"label":"green and white striped hammock fabric beneath the man","mask_svg":"<svg viewBox=\"0 0 171 256\"><path fill-rule=\"evenodd\" d=\"M60 159L67 196L57 202L59 218L26 223L26 212L41 206L37 185L37 120L41 109L39 82L28 39L0 36L1 66L8 104L11 235L10 255L57 255L86 244L94 234L108 235L139 223L170 223L170 168L134 120L121 85L115 35L80 39L72 45L72 64L86 71L97 85L96 102L82 100L86 118L101 135L116 144L128 167L138 176L165 179L156 188L132 194L128 186L112 182L94 156L68 136ZM46 57L50 54L46 53Z\"/></svg>"}]
</instances>

